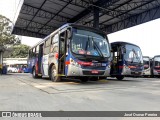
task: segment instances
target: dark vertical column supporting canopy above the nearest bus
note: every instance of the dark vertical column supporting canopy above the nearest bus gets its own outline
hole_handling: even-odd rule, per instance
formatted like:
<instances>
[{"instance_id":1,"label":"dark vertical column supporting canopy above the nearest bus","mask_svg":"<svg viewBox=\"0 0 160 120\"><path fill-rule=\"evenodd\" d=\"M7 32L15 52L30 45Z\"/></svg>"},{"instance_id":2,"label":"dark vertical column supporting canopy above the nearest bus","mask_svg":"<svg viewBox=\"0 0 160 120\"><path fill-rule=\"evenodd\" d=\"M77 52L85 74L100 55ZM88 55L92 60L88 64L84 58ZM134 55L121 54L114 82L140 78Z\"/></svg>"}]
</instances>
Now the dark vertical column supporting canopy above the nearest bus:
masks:
<instances>
[{"instance_id":1,"label":"dark vertical column supporting canopy above the nearest bus","mask_svg":"<svg viewBox=\"0 0 160 120\"><path fill-rule=\"evenodd\" d=\"M94 7L93 12L93 27L99 29L99 8Z\"/></svg>"}]
</instances>

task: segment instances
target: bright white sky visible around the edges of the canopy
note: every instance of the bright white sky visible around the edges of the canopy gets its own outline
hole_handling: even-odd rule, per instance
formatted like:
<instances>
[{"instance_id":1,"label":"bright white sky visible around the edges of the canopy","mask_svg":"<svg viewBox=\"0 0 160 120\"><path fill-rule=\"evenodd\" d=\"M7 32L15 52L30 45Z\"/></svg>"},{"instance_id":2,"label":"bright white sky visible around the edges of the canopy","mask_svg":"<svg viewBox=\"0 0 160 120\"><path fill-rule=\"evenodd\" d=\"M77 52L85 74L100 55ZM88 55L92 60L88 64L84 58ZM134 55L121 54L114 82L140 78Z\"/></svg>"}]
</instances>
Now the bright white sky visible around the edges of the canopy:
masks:
<instances>
[{"instance_id":1,"label":"bright white sky visible around the edges of the canopy","mask_svg":"<svg viewBox=\"0 0 160 120\"><path fill-rule=\"evenodd\" d=\"M20 0L0 0L0 14L14 19ZM125 41L138 45L144 56L153 57L160 54L160 19L135 27L124 29L108 35L109 42ZM35 45L41 39L22 36L22 44Z\"/></svg>"}]
</instances>

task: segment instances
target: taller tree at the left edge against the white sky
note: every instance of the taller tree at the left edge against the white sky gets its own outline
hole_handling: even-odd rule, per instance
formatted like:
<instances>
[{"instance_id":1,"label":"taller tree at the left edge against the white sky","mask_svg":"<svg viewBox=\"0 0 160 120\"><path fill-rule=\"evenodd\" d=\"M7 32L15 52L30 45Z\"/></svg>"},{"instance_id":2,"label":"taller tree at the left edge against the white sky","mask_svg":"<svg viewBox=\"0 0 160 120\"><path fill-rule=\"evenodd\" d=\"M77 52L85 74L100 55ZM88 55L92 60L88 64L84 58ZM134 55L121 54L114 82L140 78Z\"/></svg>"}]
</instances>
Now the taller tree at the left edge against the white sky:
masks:
<instances>
[{"instance_id":1,"label":"taller tree at the left edge against the white sky","mask_svg":"<svg viewBox=\"0 0 160 120\"><path fill-rule=\"evenodd\" d=\"M20 44L20 40L15 35L11 34L12 22L0 15L0 49L7 49L13 45Z\"/></svg>"}]
</instances>

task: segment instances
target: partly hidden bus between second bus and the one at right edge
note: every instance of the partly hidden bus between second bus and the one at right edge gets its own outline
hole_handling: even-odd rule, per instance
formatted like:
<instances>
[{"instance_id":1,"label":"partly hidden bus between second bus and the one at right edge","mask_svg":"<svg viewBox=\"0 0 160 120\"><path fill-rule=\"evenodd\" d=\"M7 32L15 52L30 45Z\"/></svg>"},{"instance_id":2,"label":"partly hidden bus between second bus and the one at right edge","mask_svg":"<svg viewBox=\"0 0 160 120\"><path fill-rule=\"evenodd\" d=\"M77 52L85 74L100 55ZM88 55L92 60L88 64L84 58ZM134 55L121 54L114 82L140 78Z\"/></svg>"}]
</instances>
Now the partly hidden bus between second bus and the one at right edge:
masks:
<instances>
[{"instance_id":1,"label":"partly hidden bus between second bus and the one at right edge","mask_svg":"<svg viewBox=\"0 0 160 120\"><path fill-rule=\"evenodd\" d=\"M152 76L152 60L149 56L143 56L143 76L144 77L151 77Z\"/></svg>"}]
</instances>

